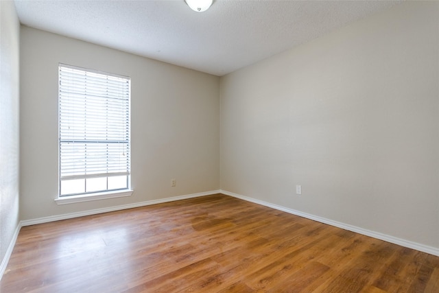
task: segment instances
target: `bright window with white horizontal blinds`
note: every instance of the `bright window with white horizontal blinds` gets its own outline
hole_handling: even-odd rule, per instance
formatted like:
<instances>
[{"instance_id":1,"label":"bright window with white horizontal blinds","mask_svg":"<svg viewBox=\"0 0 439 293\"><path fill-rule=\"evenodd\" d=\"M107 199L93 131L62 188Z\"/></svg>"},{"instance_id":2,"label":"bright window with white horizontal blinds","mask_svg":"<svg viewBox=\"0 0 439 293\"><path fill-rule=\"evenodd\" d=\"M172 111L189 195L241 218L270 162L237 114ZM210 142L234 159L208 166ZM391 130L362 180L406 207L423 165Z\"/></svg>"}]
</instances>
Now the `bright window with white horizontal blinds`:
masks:
<instances>
[{"instance_id":1,"label":"bright window with white horizontal blinds","mask_svg":"<svg viewBox=\"0 0 439 293\"><path fill-rule=\"evenodd\" d=\"M130 188L130 78L59 66L59 197Z\"/></svg>"}]
</instances>

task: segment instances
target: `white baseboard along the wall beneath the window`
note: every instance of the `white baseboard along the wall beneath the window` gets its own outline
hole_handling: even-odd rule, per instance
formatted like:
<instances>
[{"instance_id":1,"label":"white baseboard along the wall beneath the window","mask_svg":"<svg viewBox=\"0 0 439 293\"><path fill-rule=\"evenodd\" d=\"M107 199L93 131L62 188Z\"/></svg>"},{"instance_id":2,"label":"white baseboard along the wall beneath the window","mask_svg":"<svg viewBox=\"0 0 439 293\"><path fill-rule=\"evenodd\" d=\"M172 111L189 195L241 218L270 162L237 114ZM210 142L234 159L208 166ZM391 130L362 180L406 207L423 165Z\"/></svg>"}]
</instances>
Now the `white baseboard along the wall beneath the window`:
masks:
<instances>
[{"instance_id":1,"label":"white baseboard along the wall beneath the window","mask_svg":"<svg viewBox=\"0 0 439 293\"><path fill-rule=\"evenodd\" d=\"M187 198L198 198L200 196L210 196L212 194L219 194L219 190L213 190L213 191L206 191L206 192L200 192L198 194L188 194L185 196L174 196L171 198L161 198L159 200L147 200L145 202L135 202L132 204L123 204L116 207L106 207L103 209L91 209L88 211L79 211L76 213L64 213L62 215L51 215L49 217L43 217L43 218L37 218L32 220L23 220L21 221L21 226L29 226L29 225L35 225L35 224L43 224L47 222L54 222L59 220L67 220L71 218L78 218L83 217L84 215L95 215L98 213L107 213L109 211L120 211L122 209L132 209L134 207L144 207L151 204L160 204L163 202L173 202L176 200L185 200Z\"/></svg>"}]
</instances>

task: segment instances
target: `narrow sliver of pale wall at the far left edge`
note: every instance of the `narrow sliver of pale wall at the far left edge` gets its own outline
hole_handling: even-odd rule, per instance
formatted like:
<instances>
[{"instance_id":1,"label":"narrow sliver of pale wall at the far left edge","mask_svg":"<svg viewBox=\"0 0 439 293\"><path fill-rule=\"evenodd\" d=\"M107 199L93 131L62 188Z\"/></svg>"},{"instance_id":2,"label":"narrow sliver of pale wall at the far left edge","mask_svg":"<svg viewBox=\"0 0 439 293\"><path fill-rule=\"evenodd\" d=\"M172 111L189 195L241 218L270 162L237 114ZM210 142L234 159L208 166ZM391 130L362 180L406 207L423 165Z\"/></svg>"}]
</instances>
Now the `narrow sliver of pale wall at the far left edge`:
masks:
<instances>
[{"instance_id":1,"label":"narrow sliver of pale wall at the far left edge","mask_svg":"<svg viewBox=\"0 0 439 293\"><path fill-rule=\"evenodd\" d=\"M0 1L0 263L19 226L19 45L14 2Z\"/></svg>"}]
</instances>

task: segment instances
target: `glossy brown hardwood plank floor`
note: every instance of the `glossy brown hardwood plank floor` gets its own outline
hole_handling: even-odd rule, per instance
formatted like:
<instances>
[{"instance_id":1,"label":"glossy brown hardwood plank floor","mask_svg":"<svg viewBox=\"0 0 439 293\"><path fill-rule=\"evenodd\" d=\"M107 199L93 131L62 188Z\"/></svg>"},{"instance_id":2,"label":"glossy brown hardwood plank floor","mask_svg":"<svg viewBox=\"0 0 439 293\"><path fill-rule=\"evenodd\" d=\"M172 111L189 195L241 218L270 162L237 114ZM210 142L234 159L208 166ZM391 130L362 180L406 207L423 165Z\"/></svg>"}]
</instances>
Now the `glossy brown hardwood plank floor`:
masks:
<instances>
[{"instance_id":1,"label":"glossy brown hardwood plank floor","mask_svg":"<svg viewBox=\"0 0 439 293\"><path fill-rule=\"evenodd\" d=\"M0 292L439 292L439 257L221 194L21 228Z\"/></svg>"}]
</instances>

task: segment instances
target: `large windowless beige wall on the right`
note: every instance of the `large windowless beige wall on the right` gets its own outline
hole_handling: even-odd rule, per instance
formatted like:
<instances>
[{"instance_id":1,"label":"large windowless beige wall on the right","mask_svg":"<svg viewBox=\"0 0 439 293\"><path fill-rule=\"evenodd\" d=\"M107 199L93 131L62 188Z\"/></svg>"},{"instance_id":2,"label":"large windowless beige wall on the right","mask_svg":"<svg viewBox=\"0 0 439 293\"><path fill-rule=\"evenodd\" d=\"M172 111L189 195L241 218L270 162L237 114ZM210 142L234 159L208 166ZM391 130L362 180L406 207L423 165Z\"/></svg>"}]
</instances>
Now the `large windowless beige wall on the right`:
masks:
<instances>
[{"instance_id":1,"label":"large windowless beige wall on the right","mask_svg":"<svg viewBox=\"0 0 439 293\"><path fill-rule=\"evenodd\" d=\"M221 188L439 248L438 15L403 3L222 77Z\"/></svg>"}]
</instances>

